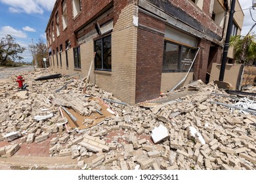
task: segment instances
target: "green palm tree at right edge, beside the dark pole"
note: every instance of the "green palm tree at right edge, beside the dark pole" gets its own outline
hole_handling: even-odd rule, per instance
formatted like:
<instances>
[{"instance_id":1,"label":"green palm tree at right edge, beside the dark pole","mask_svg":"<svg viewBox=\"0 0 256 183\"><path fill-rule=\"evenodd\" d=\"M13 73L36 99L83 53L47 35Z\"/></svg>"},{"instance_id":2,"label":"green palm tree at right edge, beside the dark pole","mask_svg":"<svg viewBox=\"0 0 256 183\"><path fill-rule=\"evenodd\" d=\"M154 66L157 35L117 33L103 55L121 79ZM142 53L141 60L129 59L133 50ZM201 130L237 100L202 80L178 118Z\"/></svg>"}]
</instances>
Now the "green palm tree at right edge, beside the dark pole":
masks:
<instances>
[{"instance_id":1,"label":"green palm tree at right edge, beside the dark pole","mask_svg":"<svg viewBox=\"0 0 256 183\"><path fill-rule=\"evenodd\" d=\"M253 27L245 36L236 35L230 37L230 46L234 47L234 58L238 60L238 63L247 65L256 61L256 35L251 33Z\"/></svg>"}]
</instances>

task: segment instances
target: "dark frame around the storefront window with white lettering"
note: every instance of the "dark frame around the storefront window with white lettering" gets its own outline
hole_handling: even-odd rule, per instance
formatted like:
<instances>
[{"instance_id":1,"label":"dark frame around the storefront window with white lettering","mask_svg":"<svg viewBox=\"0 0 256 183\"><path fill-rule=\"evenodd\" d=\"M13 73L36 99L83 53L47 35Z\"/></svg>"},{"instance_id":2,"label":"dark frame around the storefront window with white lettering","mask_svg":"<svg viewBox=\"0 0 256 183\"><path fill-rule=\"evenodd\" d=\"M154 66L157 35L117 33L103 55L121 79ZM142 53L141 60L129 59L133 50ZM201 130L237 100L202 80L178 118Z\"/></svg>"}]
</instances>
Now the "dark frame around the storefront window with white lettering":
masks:
<instances>
[{"instance_id":1,"label":"dark frame around the storefront window with white lettering","mask_svg":"<svg viewBox=\"0 0 256 183\"><path fill-rule=\"evenodd\" d=\"M187 73L188 69L182 69L181 68L181 65L182 65L182 49L183 48L188 48L188 49L194 50L194 54L196 54L196 48L188 46L188 45L180 44L178 42L174 42L174 41L170 41L170 40L164 39L163 40L163 63L165 61L165 56L166 56L165 51L166 51L167 43L179 46L179 56L178 56L178 60L177 60L177 67L178 67L178 69L164 69L162 67L162 73ZM194 66L192 66L190 72L193 72L193 67Z\"/></svg>"}]
</instances>

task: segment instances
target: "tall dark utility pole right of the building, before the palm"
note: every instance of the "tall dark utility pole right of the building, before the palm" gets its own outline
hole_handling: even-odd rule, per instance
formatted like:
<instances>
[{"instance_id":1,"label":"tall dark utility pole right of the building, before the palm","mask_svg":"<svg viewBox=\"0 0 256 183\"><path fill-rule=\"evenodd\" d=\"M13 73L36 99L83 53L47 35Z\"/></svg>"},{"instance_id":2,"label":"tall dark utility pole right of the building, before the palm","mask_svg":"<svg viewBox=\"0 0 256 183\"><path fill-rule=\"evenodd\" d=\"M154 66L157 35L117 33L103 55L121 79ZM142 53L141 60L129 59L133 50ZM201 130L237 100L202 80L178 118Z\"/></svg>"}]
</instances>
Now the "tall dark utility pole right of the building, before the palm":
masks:
<instances>
[{"instance_id":1,"label":"tall dark utility pole right of the building, before the palm","mask_svg":"<svg viewBox=\"0 0 256 183\"><path fill-rule=\"evenodd\" d=\"M229 48L230 35L232 31L235 5L236 5L236 0L232 0L231 7L230 7L230 14L228 18L228 29L226 30L226 40L225 40L224 50L223 50L223 59L221 60L221 72L219 73L219 81L223 81L224 79L226 59L228 58L228 48Z\"/></svg>"}]
</instances>

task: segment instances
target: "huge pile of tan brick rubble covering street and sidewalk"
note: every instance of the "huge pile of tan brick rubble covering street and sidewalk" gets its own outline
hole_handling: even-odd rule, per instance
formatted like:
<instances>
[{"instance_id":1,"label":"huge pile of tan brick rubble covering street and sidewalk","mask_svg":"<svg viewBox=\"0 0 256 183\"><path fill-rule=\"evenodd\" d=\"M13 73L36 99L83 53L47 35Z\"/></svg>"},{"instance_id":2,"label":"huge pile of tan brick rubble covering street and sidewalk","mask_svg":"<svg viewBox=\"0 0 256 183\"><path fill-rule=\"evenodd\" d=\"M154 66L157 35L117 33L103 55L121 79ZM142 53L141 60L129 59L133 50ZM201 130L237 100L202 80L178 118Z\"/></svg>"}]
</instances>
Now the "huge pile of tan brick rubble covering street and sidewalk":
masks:
<instances>
[{"instance_id":1,"label":"huge pile of tan brick rubble covering street and sidewalk","mask_svg":"<svg viewBox=\"0 0 256 183\"><path fill-rule=\"evenodd\" d=\"M46 72L24 73L28 90L18 91L15 76L0 86L0 141L41 143L56 134L49 156L76 158L81 169L256 168L255 113L221 105L234 105L237 96L214 84L146 107L122 103L94 84L83 93L84 79L75 76L34 80L52 74ZM0 147L0 156L19 148Z\"/></svg>"}]
</instances>

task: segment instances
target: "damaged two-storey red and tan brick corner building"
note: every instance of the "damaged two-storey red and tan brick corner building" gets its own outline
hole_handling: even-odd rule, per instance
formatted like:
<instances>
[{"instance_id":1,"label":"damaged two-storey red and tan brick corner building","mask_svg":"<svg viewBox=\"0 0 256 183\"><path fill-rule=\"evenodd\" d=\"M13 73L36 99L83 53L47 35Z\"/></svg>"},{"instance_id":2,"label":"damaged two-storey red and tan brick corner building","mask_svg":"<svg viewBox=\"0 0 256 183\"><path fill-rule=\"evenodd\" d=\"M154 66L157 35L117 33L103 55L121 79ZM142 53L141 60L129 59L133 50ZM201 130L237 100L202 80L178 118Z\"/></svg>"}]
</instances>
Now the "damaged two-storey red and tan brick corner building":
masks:
<instances>
[{"instance_id":1,"label":"damaged two-storey red and tan brick corner building","mask_svg":"<svg viewBox=\"0 0 256 183\"><path fill-rule=\"evenodd\" d=\"M205 81L211 63L221 61L229 5L225 0L56 0L46 28L51 67L87 76L96 52L91 82L128 103L154 99L186 75L198 48L186 82ZM241 30L240 18L235 25Z\"/></svg>"}]
</instances>

